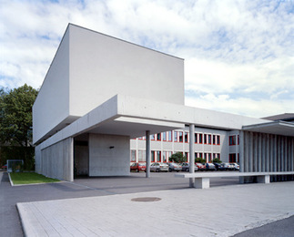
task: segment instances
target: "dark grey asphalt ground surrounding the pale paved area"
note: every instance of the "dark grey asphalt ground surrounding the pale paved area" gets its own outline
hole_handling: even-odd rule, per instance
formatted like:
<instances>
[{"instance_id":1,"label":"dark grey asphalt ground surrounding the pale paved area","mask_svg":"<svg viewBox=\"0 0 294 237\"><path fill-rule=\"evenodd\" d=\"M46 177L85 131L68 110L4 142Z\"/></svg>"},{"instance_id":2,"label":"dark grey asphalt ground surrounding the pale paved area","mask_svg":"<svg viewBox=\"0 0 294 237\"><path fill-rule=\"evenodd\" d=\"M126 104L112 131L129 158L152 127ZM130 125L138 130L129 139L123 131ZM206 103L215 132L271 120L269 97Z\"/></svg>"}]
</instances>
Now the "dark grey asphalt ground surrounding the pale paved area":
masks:
<instances>
[{"instance_id":1,"label":"dark grey asphalt ground surrounding the pale paved area","mask_svg":"<svg viewBox=\"0 0 294 237\"><path fill-rule=\"evenodd\" d=\"M236 185L238 178L216 178L210 186ZM80 178L75 182L59 182L11 187L8 175L0 171L0 236L24 236L15 204L26 201L47 201L92 196L106 196L142 191L187 189L188 179L174 177L174 173L132 172L129 177ZM294 236L294 218L239 233L236 236ZM282 235L277 235L277 232ZM269 235L276 233L276 235ZM248 235L247 235L248 234Z\"/></svg>"}]
</instances>

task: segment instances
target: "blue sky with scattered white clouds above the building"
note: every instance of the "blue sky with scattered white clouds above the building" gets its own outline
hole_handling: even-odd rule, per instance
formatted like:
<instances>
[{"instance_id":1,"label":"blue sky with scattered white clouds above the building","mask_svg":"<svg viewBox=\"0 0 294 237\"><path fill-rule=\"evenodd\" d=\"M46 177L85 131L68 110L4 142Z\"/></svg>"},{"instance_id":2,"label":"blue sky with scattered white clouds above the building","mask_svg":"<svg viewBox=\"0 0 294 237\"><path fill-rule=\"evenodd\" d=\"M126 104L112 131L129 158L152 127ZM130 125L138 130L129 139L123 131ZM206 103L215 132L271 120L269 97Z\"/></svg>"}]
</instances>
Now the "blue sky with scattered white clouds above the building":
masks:
<instances>
[{"instance_id":1,"label":"blue sky with scattered white clouds above the building","mask_svg":"<svg viewBox=\"0 0 294 237\"><path fill-rule=\"evenodd\" d=\"M185 59L185 104L294 113L294 0L0 0L0 88L40 88L68 23Z\"/></svg>"}]
</instances>

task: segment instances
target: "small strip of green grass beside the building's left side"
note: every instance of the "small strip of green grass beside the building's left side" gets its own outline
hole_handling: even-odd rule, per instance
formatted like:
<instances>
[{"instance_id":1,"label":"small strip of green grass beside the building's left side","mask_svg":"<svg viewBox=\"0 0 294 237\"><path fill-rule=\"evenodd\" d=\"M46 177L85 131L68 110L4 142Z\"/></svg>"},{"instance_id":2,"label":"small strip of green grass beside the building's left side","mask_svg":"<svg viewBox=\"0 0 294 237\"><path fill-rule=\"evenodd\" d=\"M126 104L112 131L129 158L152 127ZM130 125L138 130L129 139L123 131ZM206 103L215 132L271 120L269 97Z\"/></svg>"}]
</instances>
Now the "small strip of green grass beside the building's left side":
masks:
<instances>
[{"instance_id":1,"label":"small strip of green grass beside the building's left side","mask_svg":"<svg viewBox=\"0 0 294 237\"><path fill-rule=\"evenodd\" d=\"M10 178L14 184L31 184L60 181L56 179L47 178L44 175L37 174L35 172L10 173Z\"/></svg>"}]
</instances>

